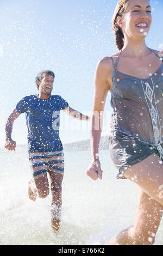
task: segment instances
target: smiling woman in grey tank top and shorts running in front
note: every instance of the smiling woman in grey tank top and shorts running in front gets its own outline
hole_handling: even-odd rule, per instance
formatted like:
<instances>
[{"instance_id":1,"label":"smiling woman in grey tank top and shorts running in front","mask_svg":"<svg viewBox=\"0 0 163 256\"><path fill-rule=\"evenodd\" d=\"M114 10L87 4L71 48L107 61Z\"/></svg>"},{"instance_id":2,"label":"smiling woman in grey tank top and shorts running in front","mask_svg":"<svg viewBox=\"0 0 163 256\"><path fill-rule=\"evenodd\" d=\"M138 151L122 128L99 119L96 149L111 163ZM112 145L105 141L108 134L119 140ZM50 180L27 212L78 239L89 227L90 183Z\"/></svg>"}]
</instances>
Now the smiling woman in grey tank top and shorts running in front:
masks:
<instances>
[{"instance_id":1,"label":"smiling woman in grey tank top and shorts running in front","mask_svg":"<svg viewBox=\"0 0 163 256\"><path fill-rule=\"evenodd\" d=\"M163 64L161 52L145 44L151 22L148 0L119 1L112 25L120 51L103 58L95 75L92 161L87 175L93 180L102 179L98 158L102 128L96 126L102 121L110 90L114 108L109 137L111 158L119 170L117 178L127 178L139 187L134 225L108 245L152 245L162 217Z\"/></svg>"}]
</instances>

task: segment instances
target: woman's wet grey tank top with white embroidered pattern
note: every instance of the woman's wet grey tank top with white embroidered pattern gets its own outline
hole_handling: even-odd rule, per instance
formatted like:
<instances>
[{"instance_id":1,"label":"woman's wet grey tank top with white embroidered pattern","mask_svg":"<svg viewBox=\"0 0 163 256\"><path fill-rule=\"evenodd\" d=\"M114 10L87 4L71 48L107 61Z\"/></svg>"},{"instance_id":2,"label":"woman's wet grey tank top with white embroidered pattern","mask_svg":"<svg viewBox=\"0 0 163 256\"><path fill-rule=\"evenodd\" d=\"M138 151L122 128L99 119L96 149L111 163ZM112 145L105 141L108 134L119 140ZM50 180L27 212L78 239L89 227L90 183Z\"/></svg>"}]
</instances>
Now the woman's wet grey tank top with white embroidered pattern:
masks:
<instances>
[{"instance_id":1,"label":"woman's wet grey tank top with white embroidered pattern","mask_svg":"<svg viewBox=\"0 0 163 256\"><path fill-rule=\"evenodd\" d=\"M116 63L111 57L114 64L111 88L114 114L111 129L133 135L144 143L155 146L160 157L163 157L163 60L153 53L160 58L162 64L147 79L117 70L121 52Z\"/></svg>"}]
</instances>

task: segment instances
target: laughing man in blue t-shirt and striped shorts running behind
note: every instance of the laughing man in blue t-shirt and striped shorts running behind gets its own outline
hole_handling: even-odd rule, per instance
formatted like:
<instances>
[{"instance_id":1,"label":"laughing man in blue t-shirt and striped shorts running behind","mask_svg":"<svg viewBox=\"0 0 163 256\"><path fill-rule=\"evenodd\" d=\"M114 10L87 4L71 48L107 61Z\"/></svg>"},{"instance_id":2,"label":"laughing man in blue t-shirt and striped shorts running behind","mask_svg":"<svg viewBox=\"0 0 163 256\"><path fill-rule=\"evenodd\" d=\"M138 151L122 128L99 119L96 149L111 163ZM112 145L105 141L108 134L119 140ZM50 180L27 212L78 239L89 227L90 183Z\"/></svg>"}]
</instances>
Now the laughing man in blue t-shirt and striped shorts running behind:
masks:
<instances>
[{"instance_id":1,"label":"laughing man in blue t-shirt and striped shorts running behind","mask_svg":"<svg viewBox=\"0 0 163 256\"><path fill-rule=\"evenodd\" d=\"M47 197L50 182L52 228L57 233L60 226L61 185L64 176L64 152L59 138L60 110L80 120L90 118L69 107L60 95L51 95L54 77L50 70L40 72L35 78L39 94L26 96L17 103L5 126L5 148L15 150L16 142L11 139L12 124L21 113L26 113L29 161L34 178L34 181L29 181L28 195L33 201L37 196Z\"/></svg>"}]
</instances>

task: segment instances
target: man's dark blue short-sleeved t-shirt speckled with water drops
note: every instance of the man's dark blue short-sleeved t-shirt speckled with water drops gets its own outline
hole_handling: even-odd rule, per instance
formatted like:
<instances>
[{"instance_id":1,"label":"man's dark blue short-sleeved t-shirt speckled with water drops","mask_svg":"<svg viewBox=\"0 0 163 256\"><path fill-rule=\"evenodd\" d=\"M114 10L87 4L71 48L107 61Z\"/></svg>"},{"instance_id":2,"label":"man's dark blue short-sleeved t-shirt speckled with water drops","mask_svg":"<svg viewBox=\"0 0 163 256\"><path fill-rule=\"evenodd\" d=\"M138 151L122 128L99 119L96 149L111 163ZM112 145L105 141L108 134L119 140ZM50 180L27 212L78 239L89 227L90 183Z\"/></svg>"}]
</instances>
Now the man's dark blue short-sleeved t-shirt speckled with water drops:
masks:
<instances>
[{"instance_id":1,"label":"man's dark blue short-sleeved t-shirt speckled with water drops","mask_svg":"<svg viewBox=\"0 0 163 256\"><path fill-rule=\"evenodd\" d=\"M37 95L23 97L16 105L19 113L26 113L28 151L61 151L59 138L60 110L68 103L60 95L40 99Z\"/></svg>"}]
</instances>

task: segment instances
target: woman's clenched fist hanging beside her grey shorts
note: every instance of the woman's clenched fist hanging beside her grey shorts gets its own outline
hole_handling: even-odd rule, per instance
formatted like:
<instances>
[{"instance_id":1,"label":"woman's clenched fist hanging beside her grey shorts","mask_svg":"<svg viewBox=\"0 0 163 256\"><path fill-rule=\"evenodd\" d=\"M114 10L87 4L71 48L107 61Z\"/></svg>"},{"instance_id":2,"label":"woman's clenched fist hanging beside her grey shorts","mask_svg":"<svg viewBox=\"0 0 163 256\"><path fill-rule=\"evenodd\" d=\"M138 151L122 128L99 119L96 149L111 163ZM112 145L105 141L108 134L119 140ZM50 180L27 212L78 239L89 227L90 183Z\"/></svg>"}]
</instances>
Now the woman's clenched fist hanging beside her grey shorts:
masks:
<instances>
[{"instance_id":1,"label":"woman's clenched fist hanging beside her grey shorts","mask_svg":"<svg viewBox=\"0 0 163 256\"><path fill-rule=\"evenodd\" d=\"M93 180L102 179L101 163L99 160L91 162L86 174L90 176Z\"/></svg>"}]
</instances>

